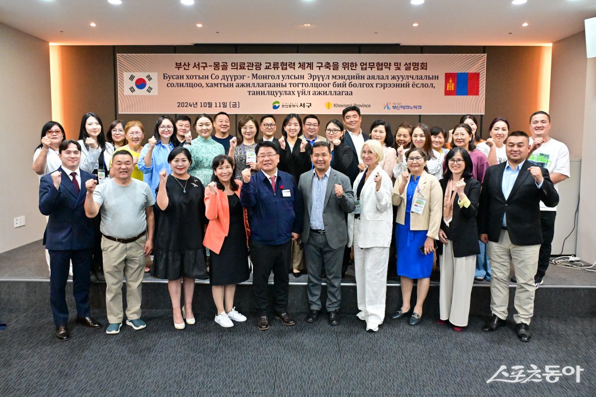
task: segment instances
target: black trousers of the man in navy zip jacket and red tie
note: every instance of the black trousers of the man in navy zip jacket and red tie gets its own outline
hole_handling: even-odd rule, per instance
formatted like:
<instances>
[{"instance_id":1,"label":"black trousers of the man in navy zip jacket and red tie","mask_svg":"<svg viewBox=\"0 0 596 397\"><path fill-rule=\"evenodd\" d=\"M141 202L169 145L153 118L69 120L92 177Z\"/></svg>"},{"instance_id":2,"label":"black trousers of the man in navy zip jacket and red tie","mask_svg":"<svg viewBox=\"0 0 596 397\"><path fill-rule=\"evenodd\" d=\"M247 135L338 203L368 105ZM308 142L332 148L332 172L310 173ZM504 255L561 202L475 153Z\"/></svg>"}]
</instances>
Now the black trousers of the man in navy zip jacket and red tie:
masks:
<instances>
[{"instance_id":1,"label":"black trousers of the man in navy zip jacket and red tie","mask_svg":"<svg viewBox=\"0 0 596 397\"><path fill-rule=\"evenodd\" d=\"M250 259L253 262L254 307L259 312L269 312L268 285L271 271L273 271L273 308L278 313L287 311L291 243L291 241L280 245L250 243Z\"/></svg>"}]
</instances>

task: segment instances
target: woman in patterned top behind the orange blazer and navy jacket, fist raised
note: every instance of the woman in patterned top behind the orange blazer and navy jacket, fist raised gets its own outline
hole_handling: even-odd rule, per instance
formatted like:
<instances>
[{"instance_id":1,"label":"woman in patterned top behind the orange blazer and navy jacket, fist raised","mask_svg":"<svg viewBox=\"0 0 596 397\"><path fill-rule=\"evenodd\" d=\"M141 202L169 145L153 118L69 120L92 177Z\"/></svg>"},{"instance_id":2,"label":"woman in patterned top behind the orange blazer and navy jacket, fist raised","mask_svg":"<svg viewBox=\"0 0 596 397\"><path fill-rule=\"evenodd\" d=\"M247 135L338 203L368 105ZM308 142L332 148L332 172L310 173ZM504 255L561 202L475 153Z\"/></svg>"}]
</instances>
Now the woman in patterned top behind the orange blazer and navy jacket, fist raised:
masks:
<instances>
[{"instance_id":1,"label":"woman in patterned top behind the orange blazer and navy jacket, fist raised","mask_svg":"<svg viewBox=\"0 0 596 397\"><path fill-rule=\"evenodd\" d=\"M240 139L238 143L234 138L229 141L230 151L234 148L234 178L242 180L242 171L250 168L250 176L259 171L257 164L257 155L254 149L257 147L259 130L257 130L257 120L252 115L247 114L238 121L238 133Z\"/></svg>"}]
</instances>

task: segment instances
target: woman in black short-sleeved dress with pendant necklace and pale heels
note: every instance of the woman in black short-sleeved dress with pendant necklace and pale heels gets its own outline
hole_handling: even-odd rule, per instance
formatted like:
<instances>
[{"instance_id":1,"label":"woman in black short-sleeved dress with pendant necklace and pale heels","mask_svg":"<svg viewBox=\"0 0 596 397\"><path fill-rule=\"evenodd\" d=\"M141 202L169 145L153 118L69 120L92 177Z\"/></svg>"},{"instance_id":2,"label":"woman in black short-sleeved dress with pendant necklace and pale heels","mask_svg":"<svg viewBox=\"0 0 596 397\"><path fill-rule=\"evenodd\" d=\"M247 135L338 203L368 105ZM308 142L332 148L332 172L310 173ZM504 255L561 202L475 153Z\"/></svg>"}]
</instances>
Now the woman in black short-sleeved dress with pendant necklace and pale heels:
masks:
<instances>
[{"instance_id":1,"label":"woman in black short-sleeved dress with pendant necklace and pale heels","mask_svg":"<svg viewBox=\"0 0 596 397\"><path fill-rule=\"evenodd\" d=\"M207 278L203 247L205 189L200 180L188 174L192 162L188 149L173 148L167 162L172 167L172 174L168 176L167 171L162 170L156 189L157 207L161 213L151 274L168 280L174 327L184 329L185 321L195 323L194 279ZM184 307L180 310L183 287Z\"/></svg>"}]
</instances>

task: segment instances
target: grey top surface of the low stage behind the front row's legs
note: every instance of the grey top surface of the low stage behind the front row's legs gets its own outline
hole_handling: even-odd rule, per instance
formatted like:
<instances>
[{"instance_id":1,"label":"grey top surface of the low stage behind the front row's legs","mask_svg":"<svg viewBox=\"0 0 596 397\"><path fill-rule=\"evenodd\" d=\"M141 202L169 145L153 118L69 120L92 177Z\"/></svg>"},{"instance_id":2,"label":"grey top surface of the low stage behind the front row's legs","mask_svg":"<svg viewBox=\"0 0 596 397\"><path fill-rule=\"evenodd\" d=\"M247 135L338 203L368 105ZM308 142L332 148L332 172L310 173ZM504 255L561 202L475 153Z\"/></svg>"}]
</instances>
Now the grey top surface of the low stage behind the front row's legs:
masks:
<instances>
[{"instance_id":1,"label":"grey top surface of the low stage behind the front row's legs","mask_svg":"<svg viewBox=\"0 0 596 397\"><path fill-rule=\"evenodd\" d=\"M306 275L297 278L290 276L290 283L305 284L306 277ZM41 240L0 254L0 280L48 279L48 265L45 261L45 251ZM165 280L156 279L147 273L144 282L165 282ZM353 267L350 267L346 272L343 283L354 282ZM209 280L197 280L197 283L209 283ZM250 280L248 283L250 283ZM399 280L389 279L389 284L398 285ZM489 282L477 284L488 286ZM544 278L544 285L541 288L561 286L596 287L596 272L575 270L551 264L547 276Z\"/></svg>"}]
</instances>

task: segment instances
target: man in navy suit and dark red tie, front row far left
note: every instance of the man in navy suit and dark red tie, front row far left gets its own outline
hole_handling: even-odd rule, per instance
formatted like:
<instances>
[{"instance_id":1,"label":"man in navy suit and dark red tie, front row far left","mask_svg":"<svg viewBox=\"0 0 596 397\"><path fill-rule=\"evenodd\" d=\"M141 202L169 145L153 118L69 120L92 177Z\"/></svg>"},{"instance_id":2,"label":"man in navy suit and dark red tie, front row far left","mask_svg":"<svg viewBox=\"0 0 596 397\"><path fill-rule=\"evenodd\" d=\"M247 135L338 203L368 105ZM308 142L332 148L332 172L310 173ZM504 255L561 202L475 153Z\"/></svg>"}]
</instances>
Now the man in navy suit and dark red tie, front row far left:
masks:
<instances>
[{"instance_id":1,"label":"man in navy suit and dark red tie, front row far left","mask_svg":"<svg viewBox=\"0 0 596 397\"><path fill-rule=\"evenodd\" d=\"M80 144L76 140L60 143L58 155L62 165L43 176L39 183L39 211L49 215L44 244L49 252L49 305L54 314L55 335L60 340L68 340L66 282L71 261L77 322L89 328L101 327L91 318L89 311L94 232L92 221L85 216L83 207L86 190L81 189L87 180L95 179L95 176L79 168Z\"/></svg>"}]
</instances>

